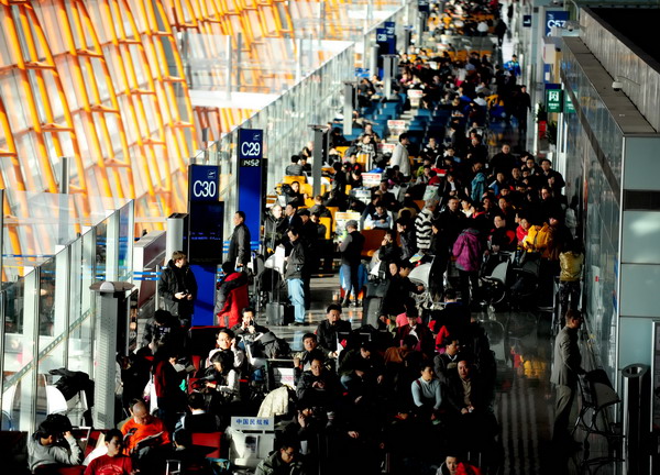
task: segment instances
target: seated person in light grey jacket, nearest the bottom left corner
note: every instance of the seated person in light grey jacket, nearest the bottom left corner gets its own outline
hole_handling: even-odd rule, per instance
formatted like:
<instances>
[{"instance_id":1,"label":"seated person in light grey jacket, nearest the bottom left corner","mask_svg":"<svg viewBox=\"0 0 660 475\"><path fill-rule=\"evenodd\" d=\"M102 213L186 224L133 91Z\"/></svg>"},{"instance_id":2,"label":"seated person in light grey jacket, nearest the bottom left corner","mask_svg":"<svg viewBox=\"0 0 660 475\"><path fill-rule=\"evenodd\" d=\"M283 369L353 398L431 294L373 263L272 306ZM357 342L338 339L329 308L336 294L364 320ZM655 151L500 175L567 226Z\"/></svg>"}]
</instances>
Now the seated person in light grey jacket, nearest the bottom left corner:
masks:
<instances>
[{"instance_id":1,"label":"seated person in light grey jacket, nearest the bottom left corner","mask_svg":"<svg viewBox=\"0 0 660 475\"><path fill-rule=\"evenodd\" d=\"M63 435L68 448L55 443ZM32 473L37 468L77 465L80 463L81 453L72 432L62 432L62 428L51 420L43 421L36 432L28 438L28 466Z\"/></svg>"}]
</instances>

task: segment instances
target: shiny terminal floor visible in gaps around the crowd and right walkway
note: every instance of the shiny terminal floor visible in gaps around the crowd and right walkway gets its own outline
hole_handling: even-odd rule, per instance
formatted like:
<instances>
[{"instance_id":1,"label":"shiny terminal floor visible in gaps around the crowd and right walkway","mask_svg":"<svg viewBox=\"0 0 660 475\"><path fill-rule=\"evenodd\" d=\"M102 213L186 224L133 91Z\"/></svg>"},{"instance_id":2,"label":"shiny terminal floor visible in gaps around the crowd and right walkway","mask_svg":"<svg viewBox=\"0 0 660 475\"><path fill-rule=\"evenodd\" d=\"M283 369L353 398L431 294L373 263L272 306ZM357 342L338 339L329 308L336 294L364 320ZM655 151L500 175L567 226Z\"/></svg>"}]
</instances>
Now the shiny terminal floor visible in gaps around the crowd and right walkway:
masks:
<instances>
[{"instance_id":1,"label":"shiny terminal floor visible in gaps around the crowd and right walkway","mask_svg":"<svg viewBox=\"0 0 660 475\"><path fill-rule=\"evenodd\" d=\"M326 318L326 307L339 292L339 278L312 278L311 289L311 309L306 319L308 325L272 328L294 350L301 349L302 335L314 332ZM362 325L362 310L356 307L344 309L342 318L350 321L354 329ZM479 313L479 319L495 320L504 328L504 338L492 341L498 360L495 413L501 426L504 451L499 474L588 473L579 470L582 451L571 455L561 454L550 443L554 418L554 395L550 384L553 354L550 314L483 311ZM578 402L574 406L573 421L578 417ZM580 434L578 439L582 440ZM606 455L602 440L590 440L591 457ZM607 475L617 472L612 466L604 466L597 473Z\"/></svg>"}]
</instances>

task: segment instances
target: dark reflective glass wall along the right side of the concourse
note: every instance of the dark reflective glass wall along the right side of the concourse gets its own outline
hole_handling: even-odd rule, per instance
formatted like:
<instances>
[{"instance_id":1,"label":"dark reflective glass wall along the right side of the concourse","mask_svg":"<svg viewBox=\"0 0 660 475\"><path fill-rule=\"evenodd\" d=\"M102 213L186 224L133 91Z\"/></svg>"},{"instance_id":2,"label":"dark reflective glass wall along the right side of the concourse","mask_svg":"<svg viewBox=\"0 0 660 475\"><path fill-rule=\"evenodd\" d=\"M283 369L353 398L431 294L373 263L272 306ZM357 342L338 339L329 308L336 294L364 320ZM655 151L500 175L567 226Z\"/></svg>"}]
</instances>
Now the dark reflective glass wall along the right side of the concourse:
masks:
<instances>
[{"instance_id":1,"label":"dark reflective glass wall along the right side of the concourse","mask_svg":"<svg viewBox=\"0 0 660 475\"><path fill-rule=\"evenodd\" d=\"M585 244L585 290L588 331L597 363L616 380L617 309L616 266L619 261L620 203L616 184L622 183L623 133L600 99L586 74L569 48L562 56L562 79L578 99L573 101L584 114L564 114L568 141L565 181L566 197L584 229L578 235ZM584 123L591 130L584 129ZM598 158L592 143L600 144L604 158ZM605 161L612 169L612 181L603 169Z\"/></svg>"}]
</instances>

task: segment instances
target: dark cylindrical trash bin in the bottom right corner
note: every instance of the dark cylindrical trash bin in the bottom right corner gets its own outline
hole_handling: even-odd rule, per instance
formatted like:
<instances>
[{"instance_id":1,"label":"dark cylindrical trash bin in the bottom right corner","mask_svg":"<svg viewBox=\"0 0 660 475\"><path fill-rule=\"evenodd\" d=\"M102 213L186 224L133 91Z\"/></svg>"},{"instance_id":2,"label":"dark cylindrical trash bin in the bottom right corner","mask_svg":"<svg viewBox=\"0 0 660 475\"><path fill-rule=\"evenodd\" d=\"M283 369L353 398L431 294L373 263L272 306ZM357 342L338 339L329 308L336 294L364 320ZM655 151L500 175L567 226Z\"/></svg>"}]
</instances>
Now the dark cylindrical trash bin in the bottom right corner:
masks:
<instances>
[{"instance_id":1,"label":"dark cylindrical trash bin in the bottom right corner","mask_svg":"<svg viewBox=\"0 0 660 475\"><path fill-rule=\"evenodd\" d=\"M624 389L625 460L628 475L650 470L651 386L649 366L631 364L622 369Z\"/></svg>"}]
</instances>

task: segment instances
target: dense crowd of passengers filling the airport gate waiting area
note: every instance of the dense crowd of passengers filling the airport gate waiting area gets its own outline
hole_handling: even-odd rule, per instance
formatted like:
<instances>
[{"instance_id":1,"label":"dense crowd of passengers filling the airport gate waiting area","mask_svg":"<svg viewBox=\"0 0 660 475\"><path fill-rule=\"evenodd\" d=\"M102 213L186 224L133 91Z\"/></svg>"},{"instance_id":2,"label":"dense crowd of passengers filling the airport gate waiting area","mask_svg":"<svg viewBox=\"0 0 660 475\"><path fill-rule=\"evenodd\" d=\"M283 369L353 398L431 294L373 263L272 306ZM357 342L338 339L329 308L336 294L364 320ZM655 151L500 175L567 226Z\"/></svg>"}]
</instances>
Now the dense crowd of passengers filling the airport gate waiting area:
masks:
<instances>
[{"instance_id":1,"label":"dense crowd of passengers filling the airport gate waiting area","mask_svg":"<svg viewBox=\"0 0 660 475\"><path fill-rule=\"evenodd\" d=\"M449 2L441 21L448 25L443 19L455 13L450 10L463 7ZM506 31L496 1L483 9L495 14L496 23L486 24L488 29ZM481 22L463 24L469 31L472 26L474 34L485 33ZM107 451L87 465L86 475L138 470L160 474L166 460L204 470L204 454L195 450L191 434L224 432L231 416L255 413L263 399L256 383L263 380L265 358L273 356L290 360L295 388L288 409L277 415L276 450L258 464L257 474L317 473L319 467L355 474L479 473L466 462L469 452L483 455L483 473L496 470L501 462L493 412L496 364L474 313L486 300L480 276L484 263L501 253L538 261L541 297L536 303L552 297L559 277L560 314L569 312L566 323L579 328L572 312L580 299L583 254L575 213L563 195L563 177L550 159L514 153L507 143L492 154L485 144L494 119L514 118L520 134L526 132L530 102L525 86L517 84L521 71L515 56L494 66L475 52L461 63L447 52L419 51L415 57L402 55L400 66L396 89L420 89L421 108L448 112L446 128L421 144L402 133L388 156L377 147L385 137L358 113L355 126L362 133L354 142L339 130L331 134L330 190L308 197L300 183L293 181L282 188L284 207L273 206L264 220L265 253L284 248L282 278L293 309L290 324L311 324L306 317L311 276L321 261L323 268L332 269L336 253L341 259L343 300L327 306L326 320L304 334L300 352L288 351L256 322L257 313L250 307L251 236L245 213L237 211L218 284L217 347L195 367L188 330L197 284L186 255L175 252L158 287L164 309L147 323L141 349L118 361L122 388L118 404L128 417L119 431L107 432ZM370 79L362 80L359 97L362 106L383 100L377 81ZM343 155L337 151L342 146L349 147ZM286 175L309 173L311 148L307 144L292 157ZM359 161L359 155L367 161ZM371 164L369 170L364 163ZM346 190L348 185L364 189L365 172L382 174L369 202ZM309 199L314 206L308 208ZM361 217L345 223L337 248L326 241L328 230L320 222L332 217L329 207ZM377 322L353 329L342 319L342 309L359 305L365 295L364 229L385 231L367 265L378 267L386 290ZM431 263L428 288L408 277L417 263L426 262ZM420 309L415 300L420 292L443 302L442 310ZM273 343L268 351L265 341ZM572 388L562 396L556 429L560 432L565 429L574 378L553 377ZM150 400L143 397L145 386L152 388ZM68 448L55 444L59 437ZM77 464L80 457L70 432L52 421L30 439L33 472L55 463Z\"/></svg>"}]
</instances>

